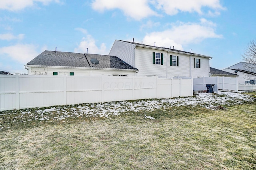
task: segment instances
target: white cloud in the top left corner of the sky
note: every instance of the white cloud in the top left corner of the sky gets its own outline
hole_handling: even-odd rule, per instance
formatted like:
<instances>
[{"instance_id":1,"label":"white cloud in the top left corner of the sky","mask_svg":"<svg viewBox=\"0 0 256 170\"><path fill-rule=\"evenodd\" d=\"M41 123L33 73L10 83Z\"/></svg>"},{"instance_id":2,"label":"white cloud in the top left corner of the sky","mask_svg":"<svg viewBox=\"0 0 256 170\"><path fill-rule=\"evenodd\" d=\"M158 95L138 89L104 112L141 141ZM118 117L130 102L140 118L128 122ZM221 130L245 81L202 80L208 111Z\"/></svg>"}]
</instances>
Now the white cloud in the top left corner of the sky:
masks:
<instances>
[{"instance_id":1,"label":"white cloud in the top left corner of the sky","mask_svg":"<svg viewBox=\"0 0 256 170\"><path fill-rule=\"evenodd\" d=\"M50 2L60 2L60 1L59 0L1 0L0 9L17 11L17 10L22 10L26 7L34 6L36 2L41 2L42 4L47 5Z\"/></svg>"}]
</instances>

